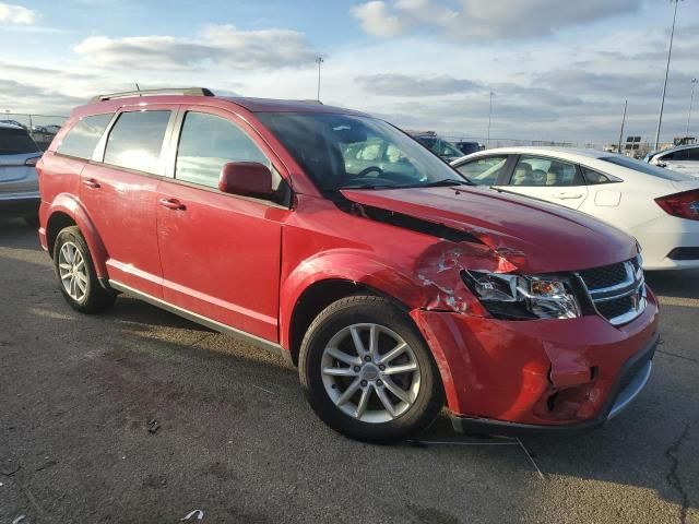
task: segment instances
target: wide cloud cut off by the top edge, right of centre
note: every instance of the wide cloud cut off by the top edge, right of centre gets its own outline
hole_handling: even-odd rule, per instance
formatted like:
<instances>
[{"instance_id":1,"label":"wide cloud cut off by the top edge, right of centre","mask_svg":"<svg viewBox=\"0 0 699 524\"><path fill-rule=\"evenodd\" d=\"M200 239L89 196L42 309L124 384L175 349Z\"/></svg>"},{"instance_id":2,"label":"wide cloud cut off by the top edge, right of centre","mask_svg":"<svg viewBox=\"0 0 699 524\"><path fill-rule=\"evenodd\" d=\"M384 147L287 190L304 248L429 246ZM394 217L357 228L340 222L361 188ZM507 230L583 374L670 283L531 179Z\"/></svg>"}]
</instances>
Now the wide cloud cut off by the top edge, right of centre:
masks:
<instances>
[{"instance_id":1,"label":"wide cloud cut off by the top edge, right of centre","mask_svg":"<svg viewBox=\"0 0 699 524\"><path fill-rule=\"evenodd\" d=\"M638 0L393 0L355 5L351 14L365 32L393 37L426 29L454 40L550 35L640 9Z\"/></svg>"}]
</instances>

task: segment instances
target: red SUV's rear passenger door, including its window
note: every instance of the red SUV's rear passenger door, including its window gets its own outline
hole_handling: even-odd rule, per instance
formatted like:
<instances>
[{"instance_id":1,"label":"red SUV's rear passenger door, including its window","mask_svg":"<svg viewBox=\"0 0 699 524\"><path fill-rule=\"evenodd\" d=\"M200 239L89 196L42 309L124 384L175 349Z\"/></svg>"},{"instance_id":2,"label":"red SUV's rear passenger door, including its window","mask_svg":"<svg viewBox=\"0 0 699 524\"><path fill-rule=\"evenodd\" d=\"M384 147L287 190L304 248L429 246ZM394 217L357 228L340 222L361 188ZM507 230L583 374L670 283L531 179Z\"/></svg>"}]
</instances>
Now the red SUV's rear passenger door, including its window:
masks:
<instances>
[{"instance_id":1,"label":"red SUV's rear passenger door, including its window","mask_svg":"<svg viewBox=\"0 0 699 524\"><path fill-rule=\"evenodd\" d=\"M107 251L109 279L162 298L155 225L164 144L177 106L122 108L81 175L80 195Z\"/></svg>"}]
</instances>

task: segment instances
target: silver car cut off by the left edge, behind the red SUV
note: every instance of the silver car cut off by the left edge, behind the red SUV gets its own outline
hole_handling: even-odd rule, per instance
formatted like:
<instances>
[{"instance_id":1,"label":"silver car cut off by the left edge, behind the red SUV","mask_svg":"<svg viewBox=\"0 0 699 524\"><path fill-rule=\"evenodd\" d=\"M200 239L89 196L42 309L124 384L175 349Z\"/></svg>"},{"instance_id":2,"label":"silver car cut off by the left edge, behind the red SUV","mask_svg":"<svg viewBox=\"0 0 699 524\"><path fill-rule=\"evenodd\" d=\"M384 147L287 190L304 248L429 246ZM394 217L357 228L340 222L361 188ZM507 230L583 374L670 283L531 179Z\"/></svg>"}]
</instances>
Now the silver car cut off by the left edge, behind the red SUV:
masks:
<instances>
[{"instance_id":1,"label":"silver car cut off by the left edge, behind the red SUV","mask_svg":"<svg viewBox=\"0 0 699 524\"><path fill-rule=\"evenodd\" d=\"M39 188L34 166L40 156L24 128L0 123L0 214L38 224Z\"/></svg>"}]
</instances>

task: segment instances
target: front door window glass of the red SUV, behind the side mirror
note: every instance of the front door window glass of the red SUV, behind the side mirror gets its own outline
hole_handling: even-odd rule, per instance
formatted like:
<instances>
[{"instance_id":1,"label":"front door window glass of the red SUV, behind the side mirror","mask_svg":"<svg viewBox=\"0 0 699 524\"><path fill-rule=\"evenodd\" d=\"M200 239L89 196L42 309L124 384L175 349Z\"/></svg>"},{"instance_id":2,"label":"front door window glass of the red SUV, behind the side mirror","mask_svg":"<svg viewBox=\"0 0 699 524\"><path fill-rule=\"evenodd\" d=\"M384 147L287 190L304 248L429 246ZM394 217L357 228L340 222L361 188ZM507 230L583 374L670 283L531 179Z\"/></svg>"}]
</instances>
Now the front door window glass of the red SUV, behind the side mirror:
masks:
<instances>
[{"instance_id":1,"label":"front door window glass of the red SUV, behind the side mirror","mask_svg":"<svg viewBox=\"0 0 699 524\"><path fill-rule=\"evenodd\" d=\"M235 123L215 115L188 112L177 148L175 178L217 188L221 169L229 162L258 162L272 169L270 160Z\"/></svg>"}]
</instances>

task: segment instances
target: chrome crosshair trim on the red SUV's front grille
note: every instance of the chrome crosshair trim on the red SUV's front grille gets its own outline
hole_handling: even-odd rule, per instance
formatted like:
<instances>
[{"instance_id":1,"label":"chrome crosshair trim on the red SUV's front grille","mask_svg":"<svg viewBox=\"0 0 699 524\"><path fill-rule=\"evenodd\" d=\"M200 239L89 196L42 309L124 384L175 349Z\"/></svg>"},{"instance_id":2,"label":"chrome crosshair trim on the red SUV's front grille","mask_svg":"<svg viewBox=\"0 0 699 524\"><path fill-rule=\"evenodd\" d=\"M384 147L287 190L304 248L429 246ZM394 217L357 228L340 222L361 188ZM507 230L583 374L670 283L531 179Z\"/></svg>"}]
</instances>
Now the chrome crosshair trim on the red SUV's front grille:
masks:
<instances>
[{"instance_id":1,"label":"chrome crosshair trim on the red SUV's front grille","mask_svg":"<svg viewBox=\"0 0 699 524\"><path fill-rule=\"evenodd\" d=\"M620 264L624 264L626 278L624 282L607 287L591 288L588 286L584 276L581 274L582 272L576 273L576 276L582 284L583 288L588 291L588 296L590 297L596 313L606 319L613 325L621 325L632 321L643 312L648 305L645 279L643 278L640 255L635 259L627 260L626 262L620 262ZM594 270L587 270L587 272L590 271ZM628 297L631 298L630 308L625 312L614 317L606 317L601 311L605 305L614 300L623 300Z\"/></svg>"}]
</instances>

